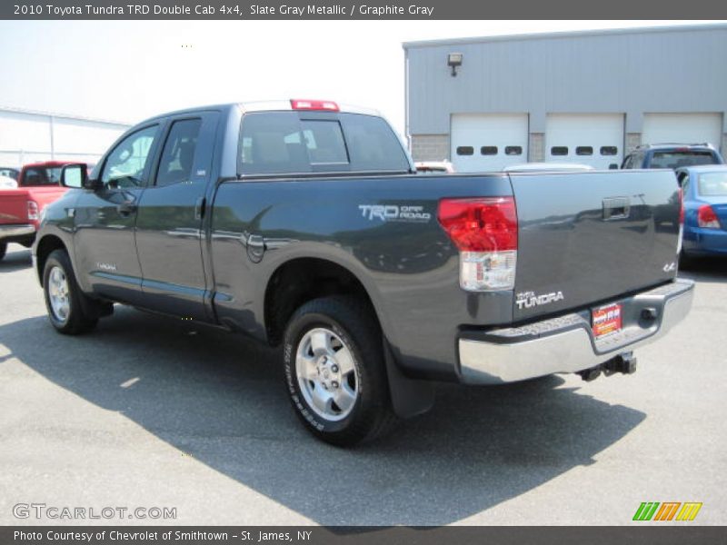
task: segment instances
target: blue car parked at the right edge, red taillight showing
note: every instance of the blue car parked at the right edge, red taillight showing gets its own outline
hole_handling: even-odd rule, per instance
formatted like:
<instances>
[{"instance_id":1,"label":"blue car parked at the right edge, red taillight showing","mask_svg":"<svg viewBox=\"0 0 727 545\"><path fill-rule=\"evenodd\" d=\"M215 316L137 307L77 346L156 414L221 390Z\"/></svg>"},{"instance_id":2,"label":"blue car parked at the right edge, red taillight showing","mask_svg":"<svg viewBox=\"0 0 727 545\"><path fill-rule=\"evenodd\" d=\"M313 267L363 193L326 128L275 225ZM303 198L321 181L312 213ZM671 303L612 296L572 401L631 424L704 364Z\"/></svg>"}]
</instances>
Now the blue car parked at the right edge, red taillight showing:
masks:
<instances>
[{"instance_id":1,"label":"blue car parked at the right edge, red taillight showing","mask_svg":"<svg viewBox=\"0 0 727 545\"><path fill-rule=\"evenodd\" d=\"M684 199L682 257L727 255L727 165L676 170Z\"/></svg>"}]
</instances>

